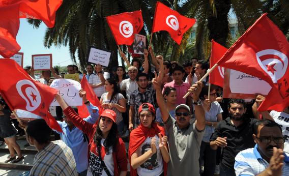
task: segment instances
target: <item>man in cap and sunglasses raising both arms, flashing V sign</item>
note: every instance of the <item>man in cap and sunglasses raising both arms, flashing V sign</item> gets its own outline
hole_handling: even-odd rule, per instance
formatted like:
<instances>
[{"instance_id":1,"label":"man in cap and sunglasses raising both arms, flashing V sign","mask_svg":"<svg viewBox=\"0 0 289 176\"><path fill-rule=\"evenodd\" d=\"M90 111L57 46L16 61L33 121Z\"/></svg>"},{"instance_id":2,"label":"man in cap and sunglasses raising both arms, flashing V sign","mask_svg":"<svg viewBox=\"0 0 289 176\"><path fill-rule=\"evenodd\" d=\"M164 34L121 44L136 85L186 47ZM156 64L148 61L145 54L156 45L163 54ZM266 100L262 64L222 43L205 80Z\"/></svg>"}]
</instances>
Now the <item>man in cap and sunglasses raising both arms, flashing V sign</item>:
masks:
<instances>
[{"instance_id":1,"label":"man in cap and sunglasses raising both arms, flashing V sign","mask_svg":"<svg viewBox=\"0 0 289 176\"><path fill-rule=\"evenodd\" d=\"M205 111L201 105L199 94L202 83L196 82L190 87L195 108L195 123L190 124L190 108L185 104L176 107L176 120L172 118L166 107L161 93L161 73L155 73L152 83L156 90L157 103L168 135L170 162L167 175L199 175L199 153L206 121Z\"/></svg>"}]
</instances>

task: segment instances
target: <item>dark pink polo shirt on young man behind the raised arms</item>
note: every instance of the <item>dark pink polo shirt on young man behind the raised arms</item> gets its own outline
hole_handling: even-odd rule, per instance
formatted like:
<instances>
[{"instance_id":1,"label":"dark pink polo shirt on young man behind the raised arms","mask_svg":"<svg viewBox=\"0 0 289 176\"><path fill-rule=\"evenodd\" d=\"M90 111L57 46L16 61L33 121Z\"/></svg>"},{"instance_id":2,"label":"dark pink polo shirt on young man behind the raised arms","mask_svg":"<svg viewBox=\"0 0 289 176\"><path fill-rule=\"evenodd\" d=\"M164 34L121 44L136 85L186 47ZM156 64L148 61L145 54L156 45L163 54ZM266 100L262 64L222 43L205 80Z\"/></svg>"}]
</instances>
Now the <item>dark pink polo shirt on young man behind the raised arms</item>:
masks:
<instances>
[{"instance_id":1,"label":"dark pink polo shirt on young man behind the raised arms","mask_svg":"<svg viewBox=\"0 0 289 176\"><path fill-rule=\"evenodd\" d=\"M169 83L166 83L163 87L163 91L162 93L164 92L165 88L166 87L175 87L175 89L177 90L177 100L176 100L176 104L177 105L180 105L180 104L186 104L186 100L187 99L184 99L184 95L187 94L188 92L188 89L190 89L190 84L187 83L187 82L182 82L181 85L177 85L175 84L175 80L169 82Z\"/></svg>"}]
</instances>

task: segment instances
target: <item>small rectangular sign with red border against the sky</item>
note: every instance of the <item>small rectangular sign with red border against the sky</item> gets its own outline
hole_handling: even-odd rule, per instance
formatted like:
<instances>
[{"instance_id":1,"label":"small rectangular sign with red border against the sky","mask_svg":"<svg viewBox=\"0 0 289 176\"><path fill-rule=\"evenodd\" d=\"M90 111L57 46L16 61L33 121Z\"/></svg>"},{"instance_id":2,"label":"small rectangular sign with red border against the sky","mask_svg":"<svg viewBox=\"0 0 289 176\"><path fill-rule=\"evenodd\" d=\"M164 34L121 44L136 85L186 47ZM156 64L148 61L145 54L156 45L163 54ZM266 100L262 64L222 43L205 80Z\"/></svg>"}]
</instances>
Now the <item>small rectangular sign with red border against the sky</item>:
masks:
<instances>
[{"instance_id":1,"label":"small rectangular sign with red border against the sky","mask_svg":"<svg viewBox=\"0 0 289 176\"><path fill-rule=\"evenodd\" d=\"M34 70L50 70L52 67L52 54L32 55L32 67Z\"/></svg>"}]
</instances>

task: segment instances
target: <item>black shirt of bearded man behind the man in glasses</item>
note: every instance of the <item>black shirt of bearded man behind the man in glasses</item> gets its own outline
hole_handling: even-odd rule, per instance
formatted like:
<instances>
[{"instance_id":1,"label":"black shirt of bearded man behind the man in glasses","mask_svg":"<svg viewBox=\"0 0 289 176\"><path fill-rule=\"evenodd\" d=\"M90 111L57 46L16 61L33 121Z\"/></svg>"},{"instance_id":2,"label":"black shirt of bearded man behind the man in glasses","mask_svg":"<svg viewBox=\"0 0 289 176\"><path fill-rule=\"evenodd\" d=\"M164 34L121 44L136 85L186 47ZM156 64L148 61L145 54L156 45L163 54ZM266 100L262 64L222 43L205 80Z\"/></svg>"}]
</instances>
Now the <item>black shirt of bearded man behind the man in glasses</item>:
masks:
<instances>
[{"instance_id":1,"label":"black shirt of bearded man behind the man in glasses","mask_svg":"<svg viewBox=\"0 0 289 176\"><path fill-rule=\"evenodd\" d=\"M243 124L238 127L232 124L229 117L220 121L210 139L214 141L217 137L227 137L227 146L223 148L221 163L231 169L234 169L236 155L245 149L252 148L255 144L252 126L258 120L243 118Z\"/></svg>"}]
</instances>

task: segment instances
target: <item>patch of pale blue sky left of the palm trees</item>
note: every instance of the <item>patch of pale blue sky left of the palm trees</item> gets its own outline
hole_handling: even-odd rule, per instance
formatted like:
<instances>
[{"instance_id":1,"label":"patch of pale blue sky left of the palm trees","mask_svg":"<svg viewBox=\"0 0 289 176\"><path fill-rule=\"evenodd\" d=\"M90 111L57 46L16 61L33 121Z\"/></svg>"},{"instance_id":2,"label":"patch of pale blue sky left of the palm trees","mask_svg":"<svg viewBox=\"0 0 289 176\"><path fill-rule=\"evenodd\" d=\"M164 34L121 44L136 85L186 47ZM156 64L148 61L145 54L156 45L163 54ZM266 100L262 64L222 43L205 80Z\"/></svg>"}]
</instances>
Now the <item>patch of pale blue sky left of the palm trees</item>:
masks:
<instances>
[{"instance_id":1,"label":"patch of pale blue sky left of the palm trees","mask_svg":"<svg viewBox=\"0 0 289 176\"><path fill-rule=\"evenodd\" d=\"M46 31L46 25L42 23L39 28L33 28L28 24L26 19L20 19L20 27L17 34L17 42L21 46L19 52L24 53L23 66L31 65L32 54L49 54L52 53L52 65L67 66L72 64L68 47L61 46L56 48L54 46L45 48L43 45L43 38Z\"/></svg>"}]
</instances>

